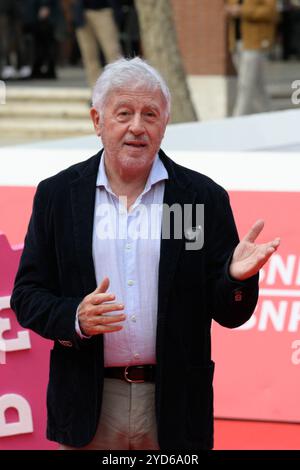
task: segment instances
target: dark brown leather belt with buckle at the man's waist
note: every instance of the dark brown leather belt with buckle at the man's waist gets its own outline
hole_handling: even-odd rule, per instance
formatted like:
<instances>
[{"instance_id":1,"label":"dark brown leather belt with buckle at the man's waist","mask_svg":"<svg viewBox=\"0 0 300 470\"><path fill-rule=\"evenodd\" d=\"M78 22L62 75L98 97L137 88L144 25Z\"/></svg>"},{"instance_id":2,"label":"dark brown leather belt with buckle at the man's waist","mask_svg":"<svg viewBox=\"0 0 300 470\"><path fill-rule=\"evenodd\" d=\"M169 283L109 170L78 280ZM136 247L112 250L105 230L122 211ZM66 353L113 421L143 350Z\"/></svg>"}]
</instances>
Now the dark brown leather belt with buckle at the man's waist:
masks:
<instances>
[{"instance_id":1,"label":"dark brown leather belt with buckle at the man's waist","mask_svg":"<svg viewBox=\"0 0 300 470\"><path fill-rule=\"evenodd\" d=\"M125 380L129 383L143 383L155 381L155 365L127 367L105 367L104 377Z\"/></svg>"}]
</instances>

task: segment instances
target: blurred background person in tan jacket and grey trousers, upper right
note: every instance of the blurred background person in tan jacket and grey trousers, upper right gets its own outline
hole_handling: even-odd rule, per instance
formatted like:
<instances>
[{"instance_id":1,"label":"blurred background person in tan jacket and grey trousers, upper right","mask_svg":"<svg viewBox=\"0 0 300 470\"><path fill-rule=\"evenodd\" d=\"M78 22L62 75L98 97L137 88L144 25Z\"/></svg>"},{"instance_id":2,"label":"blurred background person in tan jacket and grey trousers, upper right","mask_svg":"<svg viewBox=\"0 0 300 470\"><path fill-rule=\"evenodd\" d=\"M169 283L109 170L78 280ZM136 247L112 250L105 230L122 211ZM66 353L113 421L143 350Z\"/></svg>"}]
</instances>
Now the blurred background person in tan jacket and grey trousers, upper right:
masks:
<instances>
[{"instance_id":1,"label":"blurred background person in tan jacket and grey trousers, upper right","mask_svg":"<svg viewBox=\"0 0 300 470\"><path fill-rule=\"evenodd\" d=\"M266 91L266 52L273 45L278 21L276 0L226 0L229 47L237 63L234 116L271 109ZM236 60L237 59L237 60Z\"/></svg>"}]
</instances>

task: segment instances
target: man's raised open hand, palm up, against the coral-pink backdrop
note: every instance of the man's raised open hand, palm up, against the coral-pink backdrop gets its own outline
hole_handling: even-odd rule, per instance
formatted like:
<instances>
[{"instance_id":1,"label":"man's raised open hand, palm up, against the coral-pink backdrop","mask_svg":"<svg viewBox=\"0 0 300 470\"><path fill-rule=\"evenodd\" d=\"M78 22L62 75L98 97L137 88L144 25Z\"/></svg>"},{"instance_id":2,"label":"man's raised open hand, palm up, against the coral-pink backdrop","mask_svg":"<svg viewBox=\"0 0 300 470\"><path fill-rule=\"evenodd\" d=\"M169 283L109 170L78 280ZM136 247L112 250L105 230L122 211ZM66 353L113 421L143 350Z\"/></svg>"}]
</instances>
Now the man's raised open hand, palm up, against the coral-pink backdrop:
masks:
<instances>
[{"instance_id":1,"label":"man's raised open hand, palm up, against the coral-pink backdrop","mask_svg":"<svg viewBox=\"0 0 300 470\"><path fill-rule=\"evenodd\" d=\"M257 220L235 248L229 266L229 274L234 279L243 281L256 274L279 247L280 238L268 243L255 243L263 227L264 221Z\"/></svg>"}]
</instances>

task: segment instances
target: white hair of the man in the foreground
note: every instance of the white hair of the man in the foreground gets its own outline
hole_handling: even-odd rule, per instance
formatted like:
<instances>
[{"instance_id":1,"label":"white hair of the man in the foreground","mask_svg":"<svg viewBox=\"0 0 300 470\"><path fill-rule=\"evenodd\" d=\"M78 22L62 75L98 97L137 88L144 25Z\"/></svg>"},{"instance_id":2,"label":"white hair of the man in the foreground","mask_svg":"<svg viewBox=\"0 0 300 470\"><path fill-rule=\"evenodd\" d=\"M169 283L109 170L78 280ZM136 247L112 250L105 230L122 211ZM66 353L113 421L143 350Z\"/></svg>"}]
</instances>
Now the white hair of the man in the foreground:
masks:
<instances>
[{"instance_id":1,"label":"white hair of the man in the foreground","mask_svg":"<svg viewBox=\"0 0 300 470\"><path fill-rule=\"evenodd\" d=\"M106 65L93 90L93 106L102 114L109 94L124 88L160 90L166 101L166 114L169 116L171 108L169 88L158 71L140 57L133 59L122 57Z\"/></svg>"}]
</instances>

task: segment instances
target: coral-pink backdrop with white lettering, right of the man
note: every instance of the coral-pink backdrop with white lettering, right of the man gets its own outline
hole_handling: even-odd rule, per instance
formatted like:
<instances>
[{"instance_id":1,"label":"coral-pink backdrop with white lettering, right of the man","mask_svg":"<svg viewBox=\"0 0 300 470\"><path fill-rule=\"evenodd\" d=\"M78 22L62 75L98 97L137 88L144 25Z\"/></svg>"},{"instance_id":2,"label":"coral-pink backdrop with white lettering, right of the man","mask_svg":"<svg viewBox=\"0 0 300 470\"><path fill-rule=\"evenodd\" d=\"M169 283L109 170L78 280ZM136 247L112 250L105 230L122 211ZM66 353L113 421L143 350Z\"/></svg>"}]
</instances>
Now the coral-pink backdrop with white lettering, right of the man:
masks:
<instances>
[{"instance_id":1,"label":"coral-pink backdrop with white lettering, right of the man","mask_svg":"<svg viewBox=\"0 0 300 470\"><path fill-rule=\"evenodd\" d=\"M300 193L231 192L240 236L258 217L260 237L281 246L261 272L260 298L241 329L214 325L215 413L300 422Z\"/></svg>"}]
</instances>

